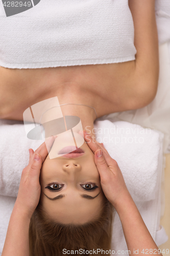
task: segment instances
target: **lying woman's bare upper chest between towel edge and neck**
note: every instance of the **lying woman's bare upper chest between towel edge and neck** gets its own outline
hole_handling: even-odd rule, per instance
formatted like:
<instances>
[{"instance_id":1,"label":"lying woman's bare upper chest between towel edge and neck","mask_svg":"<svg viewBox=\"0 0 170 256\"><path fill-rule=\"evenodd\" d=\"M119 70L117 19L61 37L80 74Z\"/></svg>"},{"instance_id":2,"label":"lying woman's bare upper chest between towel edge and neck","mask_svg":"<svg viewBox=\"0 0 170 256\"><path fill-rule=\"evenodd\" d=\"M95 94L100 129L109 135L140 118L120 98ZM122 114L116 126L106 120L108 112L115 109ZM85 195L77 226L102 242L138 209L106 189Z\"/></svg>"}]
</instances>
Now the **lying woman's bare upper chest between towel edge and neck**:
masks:
<instances>
[{"instance_id":1,"label":"lying woman's bare upper chest between towel edge and neck","mask_svg":"<svg viewBox=\"0 0 170 256\"><path fill-rule=\"evenodd\" d=\"M99 115L112 113L131 90L134 67L134 61L44 69L0 67L0 115L10 113L8 118L20 120L30 105L54 96L60 103L93 105Z\"/></svg>"}]
</instances>

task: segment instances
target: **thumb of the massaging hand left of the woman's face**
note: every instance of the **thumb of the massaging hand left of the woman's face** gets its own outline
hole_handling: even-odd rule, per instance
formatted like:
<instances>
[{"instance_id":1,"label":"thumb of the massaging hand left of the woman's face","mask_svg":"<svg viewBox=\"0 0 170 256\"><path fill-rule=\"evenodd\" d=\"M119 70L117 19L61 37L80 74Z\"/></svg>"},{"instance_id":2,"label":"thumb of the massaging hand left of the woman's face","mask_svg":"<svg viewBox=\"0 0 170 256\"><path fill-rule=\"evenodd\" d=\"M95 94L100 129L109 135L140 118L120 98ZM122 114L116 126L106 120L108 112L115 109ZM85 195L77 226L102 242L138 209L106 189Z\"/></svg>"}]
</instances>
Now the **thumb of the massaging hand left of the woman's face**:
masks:
<instances>
[{"instance_id":1,"label":"thumb of the massaging hand left of the woman's face","mask_svg":"<svg viewBox=\"0 0 170 256\"><path fill-rule=\"evenodd\" d=\"M42 166L41 156L39 154L35 154L30 167L30 176L32 177L32 179L38 178L39 180L41 166Z\"/></svg>"}]
</instances>

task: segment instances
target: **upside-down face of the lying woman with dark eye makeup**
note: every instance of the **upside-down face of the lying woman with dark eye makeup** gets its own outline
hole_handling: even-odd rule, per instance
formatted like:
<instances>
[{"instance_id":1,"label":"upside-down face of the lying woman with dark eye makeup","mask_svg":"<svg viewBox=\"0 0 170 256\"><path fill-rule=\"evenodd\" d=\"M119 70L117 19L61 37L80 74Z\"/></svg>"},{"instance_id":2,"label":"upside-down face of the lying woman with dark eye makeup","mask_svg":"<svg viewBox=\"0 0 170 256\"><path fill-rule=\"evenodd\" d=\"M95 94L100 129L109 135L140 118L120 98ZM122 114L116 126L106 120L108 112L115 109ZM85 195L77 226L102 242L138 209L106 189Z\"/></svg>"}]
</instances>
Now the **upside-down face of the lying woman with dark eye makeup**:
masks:
<instances>
[{"instance_id":1,"label":"upside-down face of the lying woman with dark eye makeup","mask_svg":"<svg viewBox=\"0 0 170 256\"><path fill-rule=\"evenodd\" d=\"M41 168L40 200L47 215L63 224L90 222L101 212L104 194L94 154L86 142L80 151L83 153L69 153L53 159L47 156Z\"/></svg>"}]
</instances>

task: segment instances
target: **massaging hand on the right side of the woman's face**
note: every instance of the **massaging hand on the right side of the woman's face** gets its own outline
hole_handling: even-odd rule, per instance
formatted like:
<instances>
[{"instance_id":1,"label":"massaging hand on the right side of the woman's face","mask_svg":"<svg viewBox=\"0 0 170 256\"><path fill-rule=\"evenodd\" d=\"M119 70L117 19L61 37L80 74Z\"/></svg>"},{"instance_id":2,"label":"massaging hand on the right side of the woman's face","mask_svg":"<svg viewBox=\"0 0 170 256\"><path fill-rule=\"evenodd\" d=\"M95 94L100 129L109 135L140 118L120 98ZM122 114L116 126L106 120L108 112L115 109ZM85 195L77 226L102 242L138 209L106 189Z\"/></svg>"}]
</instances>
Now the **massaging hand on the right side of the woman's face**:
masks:
<instances>
[{"instance_id":1,"label":"massaging hand on the right side of the woman's face","mask_svg":"<svg viewBox=\"0 0 170 256\"><path fill-rule=\"evenodd\" d=\"M131 197L124 177L117 162L112 159L106 148L84 131L84 139L94 153L95 165L100 174L101 186L106 198L117 208L123 204L128 197Z\"/></svg>"}]
</instances>

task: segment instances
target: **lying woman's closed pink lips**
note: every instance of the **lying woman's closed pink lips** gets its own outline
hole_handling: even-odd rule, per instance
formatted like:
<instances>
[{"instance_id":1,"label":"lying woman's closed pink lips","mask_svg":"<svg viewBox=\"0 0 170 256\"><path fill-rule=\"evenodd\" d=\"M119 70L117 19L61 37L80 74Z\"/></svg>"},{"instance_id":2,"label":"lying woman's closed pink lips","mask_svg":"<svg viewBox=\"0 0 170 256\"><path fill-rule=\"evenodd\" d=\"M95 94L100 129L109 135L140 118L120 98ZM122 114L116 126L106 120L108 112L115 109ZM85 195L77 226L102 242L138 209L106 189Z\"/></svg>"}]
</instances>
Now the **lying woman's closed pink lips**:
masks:
<instances>
[{"instance_id":1,"label":"lying woman's closed pink lips","mask_svg":"<svg viewBox=\"0 0 170 256\"><path fill-rule=\"evenodd\" d=\"M66 146L59 151L58 155L63 155L66 158L81 157L84 155L84 151L76 146Z\"/></svg>"}]
</instances>

